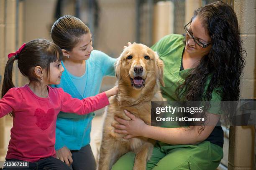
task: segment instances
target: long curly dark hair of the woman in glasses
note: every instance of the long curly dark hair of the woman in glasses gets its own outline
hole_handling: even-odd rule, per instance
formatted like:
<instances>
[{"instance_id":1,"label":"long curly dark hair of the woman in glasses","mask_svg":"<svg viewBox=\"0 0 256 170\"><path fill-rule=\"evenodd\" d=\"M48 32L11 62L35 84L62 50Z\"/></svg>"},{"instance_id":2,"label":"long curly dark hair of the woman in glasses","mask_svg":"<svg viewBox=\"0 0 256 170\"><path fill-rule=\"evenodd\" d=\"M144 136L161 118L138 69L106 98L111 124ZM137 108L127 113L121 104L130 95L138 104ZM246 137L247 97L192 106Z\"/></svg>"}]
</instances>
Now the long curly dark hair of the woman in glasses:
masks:
<instances>
[{"instance_id":1,"label":"long curly dark hair of the woman in glasses","mask_svg":"<svg viewBox=\"0 0 256 170\"><path fill-rule=\"evenodd\" d=\"M238 20L233 8L221 1L198 8L192 20L199 17L211 37L211 50L186 77L177 92L185 92L185 100L210 101L213 90L222 101L238 101L240 76L245 66ZM210 78L209 84L207 79ZM208 84L208 85L207 85ZM206 87L207 86L207 87ZM206 88L206 90L205 90ZM226 102L225 102L226 103ZM221 103L224 120L230 121L235 107Z\"/></svg>"}]
</instances>

